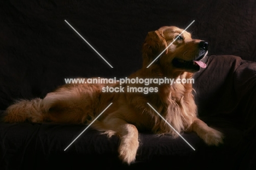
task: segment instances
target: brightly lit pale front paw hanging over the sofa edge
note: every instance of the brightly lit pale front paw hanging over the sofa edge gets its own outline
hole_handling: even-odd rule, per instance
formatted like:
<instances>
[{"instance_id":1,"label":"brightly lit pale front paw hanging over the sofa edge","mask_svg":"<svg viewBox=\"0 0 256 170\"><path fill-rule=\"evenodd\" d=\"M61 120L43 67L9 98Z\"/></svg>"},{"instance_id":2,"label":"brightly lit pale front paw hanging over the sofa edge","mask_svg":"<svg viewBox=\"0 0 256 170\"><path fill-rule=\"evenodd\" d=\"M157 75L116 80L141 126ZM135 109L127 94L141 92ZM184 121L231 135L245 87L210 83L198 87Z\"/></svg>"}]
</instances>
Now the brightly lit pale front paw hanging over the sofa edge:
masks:
<instances>
[{"instance_id":1,"label":"brightly lit pale front paw hanging over the sofa edge","mask_svg":"<svg viewBox=\"0 0 256 170\"><path fill-rule=\"evenodd\" d=\"M119 159L130 165L131 162L135 161L138 145L138 140L121 142L119 145Z\"/></svg>"}]
</instances>

